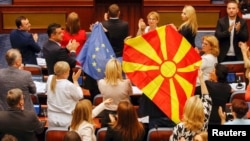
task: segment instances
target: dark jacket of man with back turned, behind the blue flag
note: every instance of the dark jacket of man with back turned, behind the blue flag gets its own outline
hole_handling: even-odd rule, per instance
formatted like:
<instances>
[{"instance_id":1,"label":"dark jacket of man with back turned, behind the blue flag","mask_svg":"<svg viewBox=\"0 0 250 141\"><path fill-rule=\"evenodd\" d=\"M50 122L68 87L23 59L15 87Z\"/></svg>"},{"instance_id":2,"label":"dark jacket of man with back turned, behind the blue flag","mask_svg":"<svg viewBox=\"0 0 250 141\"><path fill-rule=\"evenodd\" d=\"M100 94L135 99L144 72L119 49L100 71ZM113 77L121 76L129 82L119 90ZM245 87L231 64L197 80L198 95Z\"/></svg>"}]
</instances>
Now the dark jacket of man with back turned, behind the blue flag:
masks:
<instances>
[{"instance_id":1,"label":"dark jacket of man with back turned, behind the blue flag","mask_svg":"<svg viewBox=\"0 0 250 141\"><path fill-rule=\"evenodd\" d=\"M128 22L120 19L109 19L103 21L102 25L108 30L107 36L116 57L122 57L124 39L128 36Z\"/></svg>"}]
</instances>

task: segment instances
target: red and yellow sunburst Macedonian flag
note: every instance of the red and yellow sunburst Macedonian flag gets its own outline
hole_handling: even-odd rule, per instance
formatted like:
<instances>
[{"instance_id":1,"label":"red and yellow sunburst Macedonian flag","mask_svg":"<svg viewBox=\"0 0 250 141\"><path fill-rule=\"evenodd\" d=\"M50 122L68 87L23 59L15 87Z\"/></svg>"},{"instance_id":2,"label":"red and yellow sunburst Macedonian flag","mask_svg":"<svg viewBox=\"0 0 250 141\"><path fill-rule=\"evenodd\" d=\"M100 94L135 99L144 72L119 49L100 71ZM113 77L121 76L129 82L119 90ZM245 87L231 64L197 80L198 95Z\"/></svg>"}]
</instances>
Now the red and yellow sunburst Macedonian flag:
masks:
<instances>
[{"instance_id":1,"label":"red and yellow sunburst Macedonian flag","mask_svg":"<svg viewBox=\"0 0 250 141\"><path fill-rule=\"evenodd\" d=\"M194 94L200 64L200 55L169 25L125 41L123 71L175 123Z\"/></svg>"}]
</instances>

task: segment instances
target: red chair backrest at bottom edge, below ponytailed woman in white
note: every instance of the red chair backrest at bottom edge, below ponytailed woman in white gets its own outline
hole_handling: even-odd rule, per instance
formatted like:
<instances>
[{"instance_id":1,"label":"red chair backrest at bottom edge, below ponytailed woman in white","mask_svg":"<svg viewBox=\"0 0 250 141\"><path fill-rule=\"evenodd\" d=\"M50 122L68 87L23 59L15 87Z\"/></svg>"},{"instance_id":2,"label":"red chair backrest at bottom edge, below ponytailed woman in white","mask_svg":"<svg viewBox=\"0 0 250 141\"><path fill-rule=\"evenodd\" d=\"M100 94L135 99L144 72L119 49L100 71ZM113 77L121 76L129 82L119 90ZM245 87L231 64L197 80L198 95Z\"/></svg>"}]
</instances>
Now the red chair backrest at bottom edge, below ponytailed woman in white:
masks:
<instances>
[{"instance_id":1,"label":"red chair backrest at bottom edge, below ponytailed woman in white","mask_svg":"<svg viewBox=\"0 0 250 141\"><path fill-rule=\"evenodd\" d=\"M45 133L45 141L62 141L68 129L48 128Z\"/></svg>"}]
</instances>

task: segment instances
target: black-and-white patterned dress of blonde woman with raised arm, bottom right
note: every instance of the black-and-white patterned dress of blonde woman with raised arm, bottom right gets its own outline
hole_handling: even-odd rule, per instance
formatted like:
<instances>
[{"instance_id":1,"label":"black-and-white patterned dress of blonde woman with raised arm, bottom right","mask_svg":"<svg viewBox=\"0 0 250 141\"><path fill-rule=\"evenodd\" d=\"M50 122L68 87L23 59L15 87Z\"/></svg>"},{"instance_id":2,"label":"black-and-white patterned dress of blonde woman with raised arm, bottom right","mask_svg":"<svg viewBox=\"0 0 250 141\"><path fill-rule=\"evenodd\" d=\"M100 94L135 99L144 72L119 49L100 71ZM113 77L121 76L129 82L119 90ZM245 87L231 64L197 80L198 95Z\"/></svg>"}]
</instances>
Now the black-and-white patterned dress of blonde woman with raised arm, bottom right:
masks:
<instances>
[{"instance_id":1,"label":"black-and-white patterned dress of blonde woman with raised arm, bottom right","mask_svg":"<svg viewBox=\"0 0 250 141\"><path fill-rule=\"evenodd\" d=\"M205 113L205 123L200 131L206 131L208 128L208 120L212 111L212 99L209 94L203 94L201 97L204 113ZM186 141L192 141L193 136L197 132L193 132L187 129L183 122L180 122L174 127L173 134L171 135L169 141L178 141L181 137L184 137Z\"/></svg>"}]
</instances>

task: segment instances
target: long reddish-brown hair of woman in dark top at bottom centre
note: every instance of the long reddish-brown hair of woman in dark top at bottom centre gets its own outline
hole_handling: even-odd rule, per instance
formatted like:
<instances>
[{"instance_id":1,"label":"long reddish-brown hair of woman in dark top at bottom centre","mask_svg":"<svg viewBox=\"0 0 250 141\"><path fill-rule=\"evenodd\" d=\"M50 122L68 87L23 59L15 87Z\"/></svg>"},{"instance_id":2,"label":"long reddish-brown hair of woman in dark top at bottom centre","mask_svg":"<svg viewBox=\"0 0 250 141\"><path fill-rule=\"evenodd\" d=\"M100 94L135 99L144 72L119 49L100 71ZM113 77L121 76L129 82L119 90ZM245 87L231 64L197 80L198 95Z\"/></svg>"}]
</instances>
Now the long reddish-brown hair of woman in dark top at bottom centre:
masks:
<instances>
[{"instance_id":1,"label":"long reddish-brown hair of woman in dark top at bottom centre","mask_svg":"<svg viewBox=\"0 0 250 141\"><path fill-rule=\"evenodd\" d=\"M118 104L117 120L111 123L111 127L122 136L123 141L137 141L144 134L134 106L126 100Z\"/></svg>"}]
</instances>

